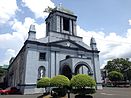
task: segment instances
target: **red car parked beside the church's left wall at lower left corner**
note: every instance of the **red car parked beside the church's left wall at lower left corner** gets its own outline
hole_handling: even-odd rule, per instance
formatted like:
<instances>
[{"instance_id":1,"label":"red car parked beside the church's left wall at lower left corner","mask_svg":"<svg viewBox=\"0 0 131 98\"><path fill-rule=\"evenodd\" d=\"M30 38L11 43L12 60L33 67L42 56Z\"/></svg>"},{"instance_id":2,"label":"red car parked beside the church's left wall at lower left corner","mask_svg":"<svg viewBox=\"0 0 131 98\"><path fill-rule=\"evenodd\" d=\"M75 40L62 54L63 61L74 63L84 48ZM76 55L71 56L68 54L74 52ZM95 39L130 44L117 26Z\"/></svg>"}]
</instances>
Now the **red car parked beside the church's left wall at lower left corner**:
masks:
<instances>
[{"instance_id":1,"label":"red car parked beside the church's left wall at lower left corner","mask_svg":"<svg viewBox=\"0 0 131 98\"><path fill-rule=\"evenodd\" d=\"M19 92L19 90L16 87L8 87L4 90L0 90L0 94L4 95L4 94L17 94Z\"/></svg>"}]
</instances>

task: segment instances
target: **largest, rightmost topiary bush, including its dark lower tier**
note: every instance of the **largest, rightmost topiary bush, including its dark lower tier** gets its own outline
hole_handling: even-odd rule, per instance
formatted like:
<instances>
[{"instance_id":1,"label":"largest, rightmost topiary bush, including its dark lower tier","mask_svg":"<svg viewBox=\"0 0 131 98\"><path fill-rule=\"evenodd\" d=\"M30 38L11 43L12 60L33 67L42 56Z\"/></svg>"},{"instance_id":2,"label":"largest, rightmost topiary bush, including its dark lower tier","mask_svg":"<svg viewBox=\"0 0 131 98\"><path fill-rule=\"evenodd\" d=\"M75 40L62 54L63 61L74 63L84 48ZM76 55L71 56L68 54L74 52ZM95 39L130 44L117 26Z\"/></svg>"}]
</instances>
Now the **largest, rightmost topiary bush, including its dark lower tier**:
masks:
<instances>
[{"instance_id":1,"label":"largest, rightmost topiary bush, including its dark lower tier","mask_svg":"<svg viewBox=\"0 0 131 98\"><path fill-rule=\"evenodd\" d=\"M95 80L87 74L77 74L71 79L72 93L81 95L95 93Z\"/></svg>"}]
</instances>

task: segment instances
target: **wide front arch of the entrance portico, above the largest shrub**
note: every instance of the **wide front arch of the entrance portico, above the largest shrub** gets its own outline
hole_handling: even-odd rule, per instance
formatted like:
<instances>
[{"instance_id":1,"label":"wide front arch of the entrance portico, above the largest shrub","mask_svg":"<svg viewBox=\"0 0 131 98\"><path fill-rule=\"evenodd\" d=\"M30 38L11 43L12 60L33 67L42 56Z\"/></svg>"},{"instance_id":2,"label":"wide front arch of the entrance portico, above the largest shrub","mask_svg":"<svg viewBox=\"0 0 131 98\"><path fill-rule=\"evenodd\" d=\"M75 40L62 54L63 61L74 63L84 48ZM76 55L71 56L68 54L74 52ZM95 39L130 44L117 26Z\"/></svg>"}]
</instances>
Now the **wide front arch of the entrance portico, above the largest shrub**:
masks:
<instances>
[{"instance_id":1,"label":"wide front arch of the entrance portico, above the largest shrub","mask_svg":"<svg viewBox=\"0 0 131 98\"><path fill-rule=\"evenodd\" d=\"M93 75L91 67L85 62L79 62L75 67L75 74L88 74Z\"/></svg>"}]
</instances>

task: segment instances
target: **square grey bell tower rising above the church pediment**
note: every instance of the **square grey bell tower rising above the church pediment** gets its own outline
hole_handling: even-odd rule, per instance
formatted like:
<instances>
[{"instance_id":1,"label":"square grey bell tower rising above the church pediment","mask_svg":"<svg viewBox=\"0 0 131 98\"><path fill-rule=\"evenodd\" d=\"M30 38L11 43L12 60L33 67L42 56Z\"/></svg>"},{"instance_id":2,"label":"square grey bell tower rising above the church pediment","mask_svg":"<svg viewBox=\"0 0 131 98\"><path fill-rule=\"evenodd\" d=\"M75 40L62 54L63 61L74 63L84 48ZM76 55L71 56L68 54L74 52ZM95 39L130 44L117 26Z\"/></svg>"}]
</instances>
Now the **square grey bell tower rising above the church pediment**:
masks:
<instances>
[{"instance_id":1,"label":"square grey bell tower rising above the church pediment","mask_svg":"<svg viewBox=\"0 0 131 98\"><path fill-rule=\"evenodd\" d=\"M62 6L55 7L46 18L46 37L53 36L60 39L78 37L76 31L77 16Z\"/></svg>"}]
</instances>

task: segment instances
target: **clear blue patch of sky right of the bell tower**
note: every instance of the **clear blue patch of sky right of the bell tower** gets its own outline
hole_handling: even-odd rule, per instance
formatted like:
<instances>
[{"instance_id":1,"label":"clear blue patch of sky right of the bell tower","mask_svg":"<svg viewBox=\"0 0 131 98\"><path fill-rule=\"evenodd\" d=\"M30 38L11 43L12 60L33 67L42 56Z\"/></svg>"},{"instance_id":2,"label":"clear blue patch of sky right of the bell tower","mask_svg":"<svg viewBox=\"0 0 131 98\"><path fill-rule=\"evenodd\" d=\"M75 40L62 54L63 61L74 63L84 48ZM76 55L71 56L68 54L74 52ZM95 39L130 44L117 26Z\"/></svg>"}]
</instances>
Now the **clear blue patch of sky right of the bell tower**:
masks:
<instances>
[{"instance_id":1,"label":"clear blue patch of sky right of the bell tower","mask_svg":"<svg viewBox=\"0 0 131 98\"><path fill-rule=\"evenodd\" d=\"M103 30L106 33L126 32L131 17L130 0L53 0L73 10L78 15L78 24L85 30Z\"/></svg>"}]
</instances>

